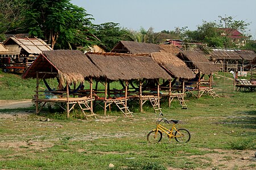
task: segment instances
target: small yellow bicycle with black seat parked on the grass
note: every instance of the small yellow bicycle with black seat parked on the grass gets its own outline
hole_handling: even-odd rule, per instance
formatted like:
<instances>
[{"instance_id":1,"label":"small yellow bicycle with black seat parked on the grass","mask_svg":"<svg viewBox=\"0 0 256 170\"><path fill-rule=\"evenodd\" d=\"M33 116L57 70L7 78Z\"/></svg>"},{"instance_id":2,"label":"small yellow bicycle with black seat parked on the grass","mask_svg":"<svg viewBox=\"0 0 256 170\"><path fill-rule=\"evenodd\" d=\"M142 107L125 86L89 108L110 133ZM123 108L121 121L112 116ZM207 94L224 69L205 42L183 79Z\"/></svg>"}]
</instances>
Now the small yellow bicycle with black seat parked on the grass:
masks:
<instances>
[{"instance_id":1,"label":"small yellow bicycle with black seat parked on the grass","mask_svg":"<svg viewBox=\"0 0 256 170\"><path fill-rule=\"evenodd\" d=\"M167 134L167 137L170 139L175 138L177 142L180 143L186 143L190 140L191 134L187 129L180 128L176 129L175 125L178 124L179 120L170 120L168 121L166 118L160 118L160 116L163 116L163 113L159 114L158 120L156 120L156 129L151 130L147 134L147 141L150 143L158 143L162 140L163 132ZM165 122L167 124L172 123L172 128L169 130L165 128L164 126L160 125L160 122Z\"/></svg>"}]
</instances>

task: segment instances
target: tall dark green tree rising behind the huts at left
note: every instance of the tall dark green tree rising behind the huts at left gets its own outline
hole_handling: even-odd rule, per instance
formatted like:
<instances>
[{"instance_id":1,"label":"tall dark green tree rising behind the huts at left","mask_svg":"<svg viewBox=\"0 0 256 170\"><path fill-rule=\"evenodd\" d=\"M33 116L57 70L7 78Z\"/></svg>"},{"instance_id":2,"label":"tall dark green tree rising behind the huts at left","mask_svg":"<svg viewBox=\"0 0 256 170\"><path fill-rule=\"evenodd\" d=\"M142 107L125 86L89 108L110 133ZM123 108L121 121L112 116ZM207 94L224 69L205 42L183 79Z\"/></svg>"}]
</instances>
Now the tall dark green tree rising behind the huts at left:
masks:
<instances>
[{"instance_id":1,"label":"tall dark green tree rising behind the huts at left","mask_svg":"<svg viewBox=\"0 0 256 170\"><path fill-rule=\"evenodd\" d=\"M90 29L92 15L69 0L25 0L31 4L25 23L33 36L48 40L52 48L59 37L62 43L74 41L79 30Z\"/></svg>"}]
</instances>

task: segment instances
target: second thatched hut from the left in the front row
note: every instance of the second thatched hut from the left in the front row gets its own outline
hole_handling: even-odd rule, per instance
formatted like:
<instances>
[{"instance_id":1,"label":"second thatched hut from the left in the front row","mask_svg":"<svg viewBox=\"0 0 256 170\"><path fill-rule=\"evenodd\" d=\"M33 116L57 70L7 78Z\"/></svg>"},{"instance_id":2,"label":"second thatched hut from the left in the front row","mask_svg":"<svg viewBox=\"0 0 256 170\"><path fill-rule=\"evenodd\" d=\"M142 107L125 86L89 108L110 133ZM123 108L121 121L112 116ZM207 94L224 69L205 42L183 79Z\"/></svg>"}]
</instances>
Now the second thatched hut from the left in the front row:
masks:
<instances>
[{"instance_id":1,"label":"second thatched hut from the left in the front row","mask_svg":"<svg viewBox=\"0 0 256 170\"><path fill-rule=\"evenodd\" d=\"M101 100L104 101L104 113L106 114L106 107L110 104L115 103L115 100L124 100L125 107L127 107L127 99L133 97L139 99L140 108L142 111L142 105L144 101L148 100L150 97L154 98L154 94L143 95L142 84L143 79L156 80L158 82L158 89L156 90L156 95L159 97L159 81L158 79L171 79L171 76L166 73L152 58L142 57L142 56L130 56L129 54L117 54L117 53L104 53L104 54L92 54L86 53L88 58L102 71L106 74L106 79L104 82L105 86L105 96ZM119 97L111 97L110 95L110 85L109 83L114 80L125 80L125 90L119 90L121 99ZM139 90L128 91L129 81L138 80ZM96 89L96 92L98 90ZM125 91L125 92L123 92ZM113 93L117 93L117 90L112 90Z\"/></svg>"}]
</instances>

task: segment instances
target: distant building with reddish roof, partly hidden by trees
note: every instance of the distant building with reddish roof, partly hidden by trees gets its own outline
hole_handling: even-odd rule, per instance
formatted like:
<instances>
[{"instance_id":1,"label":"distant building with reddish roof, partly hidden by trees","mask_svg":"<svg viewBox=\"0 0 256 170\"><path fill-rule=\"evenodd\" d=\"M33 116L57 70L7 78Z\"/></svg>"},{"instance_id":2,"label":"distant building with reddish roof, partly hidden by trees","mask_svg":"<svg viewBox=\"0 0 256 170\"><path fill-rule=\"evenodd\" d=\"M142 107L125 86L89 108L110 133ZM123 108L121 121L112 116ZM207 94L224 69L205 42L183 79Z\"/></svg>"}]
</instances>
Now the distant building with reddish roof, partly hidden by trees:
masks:
<instances>
[{"instance_id":1,"label":"distant building with reddish roof, partly hidden by trees","mask_svg":"<svg viewBox=\"0 0 256 170\"><path fill-rule=\"evenodd\" d=\"M248 37L244 36L241 32L237 31L237 29L233 28L218 28L221 36L228 37L233 44L240 48L240 46L245 46L246 40Z\"/></svg>"}]
</instances>

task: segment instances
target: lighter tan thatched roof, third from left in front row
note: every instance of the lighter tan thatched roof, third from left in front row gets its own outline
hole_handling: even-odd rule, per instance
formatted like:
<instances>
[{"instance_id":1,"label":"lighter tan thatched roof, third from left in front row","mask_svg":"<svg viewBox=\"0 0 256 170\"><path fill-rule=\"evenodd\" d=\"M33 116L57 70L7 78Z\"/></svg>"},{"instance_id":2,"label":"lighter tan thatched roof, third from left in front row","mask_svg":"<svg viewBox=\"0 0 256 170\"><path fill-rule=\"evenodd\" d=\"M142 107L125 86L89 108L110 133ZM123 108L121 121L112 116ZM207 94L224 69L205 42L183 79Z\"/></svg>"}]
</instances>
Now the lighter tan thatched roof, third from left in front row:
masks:
<instances>
[{"instance_id":1,"label":"lighter tan thatched roof, third from left in front row","mask_svg":"<svg viewBox=\"0 0 256 170\"><path fill-rule=\"evenodd\" d=\"M151 57L176 78L192 79L195 77L185 62L171 53L151 53Z\"/></svg>"}]
</instances>

